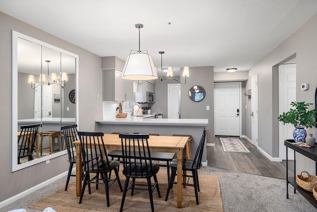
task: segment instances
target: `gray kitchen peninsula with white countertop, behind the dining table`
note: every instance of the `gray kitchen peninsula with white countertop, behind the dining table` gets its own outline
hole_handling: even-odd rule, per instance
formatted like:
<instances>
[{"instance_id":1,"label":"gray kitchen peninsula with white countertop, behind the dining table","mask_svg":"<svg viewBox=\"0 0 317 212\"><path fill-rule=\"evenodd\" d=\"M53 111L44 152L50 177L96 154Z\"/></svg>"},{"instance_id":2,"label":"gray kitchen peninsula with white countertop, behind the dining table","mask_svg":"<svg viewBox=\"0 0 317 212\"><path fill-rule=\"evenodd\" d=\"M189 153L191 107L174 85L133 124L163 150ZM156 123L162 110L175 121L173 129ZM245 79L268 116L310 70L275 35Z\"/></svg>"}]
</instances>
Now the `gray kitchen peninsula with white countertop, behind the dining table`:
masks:
<instances>
[{"instance_id":1,"label":"gray kitchen peninsula with white countertop, behind the dining table","mask_svg":"<svg viewBox=\"0 0 317 212\"><path fill-rule=\"evenodd\" d=\"M104 133L153 133L162 136L191 135L190 143L193 157L198 148L198 144L207 128L208 119L174 119L174 118L151 118L151 115L131 116L126 118L106 118L96 120L95 131ZM202 162L207 165L206 143Z\"/></svg>"}]
</instances>

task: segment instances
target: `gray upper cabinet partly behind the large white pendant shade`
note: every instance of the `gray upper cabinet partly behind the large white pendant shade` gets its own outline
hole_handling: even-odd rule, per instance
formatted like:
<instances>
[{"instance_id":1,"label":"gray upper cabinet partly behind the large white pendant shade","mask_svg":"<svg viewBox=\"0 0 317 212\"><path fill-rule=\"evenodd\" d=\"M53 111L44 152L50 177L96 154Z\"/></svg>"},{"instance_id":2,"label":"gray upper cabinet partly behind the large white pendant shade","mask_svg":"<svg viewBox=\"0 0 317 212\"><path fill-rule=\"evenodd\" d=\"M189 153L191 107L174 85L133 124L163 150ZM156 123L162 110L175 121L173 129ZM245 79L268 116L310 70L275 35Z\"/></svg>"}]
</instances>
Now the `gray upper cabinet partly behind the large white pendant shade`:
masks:
<instances>
[{"instance_id":1,"label":"gray upper cabinet partly behind the large white pendant shade","mask_svg":"<svg viewBox=\"0 0 317 212\"><path fill-rule=\"evenodd\" d=\"M103 69L103 101L133 101L133 81L121 78L117 69Z\"/></svg>"}]
</instances>

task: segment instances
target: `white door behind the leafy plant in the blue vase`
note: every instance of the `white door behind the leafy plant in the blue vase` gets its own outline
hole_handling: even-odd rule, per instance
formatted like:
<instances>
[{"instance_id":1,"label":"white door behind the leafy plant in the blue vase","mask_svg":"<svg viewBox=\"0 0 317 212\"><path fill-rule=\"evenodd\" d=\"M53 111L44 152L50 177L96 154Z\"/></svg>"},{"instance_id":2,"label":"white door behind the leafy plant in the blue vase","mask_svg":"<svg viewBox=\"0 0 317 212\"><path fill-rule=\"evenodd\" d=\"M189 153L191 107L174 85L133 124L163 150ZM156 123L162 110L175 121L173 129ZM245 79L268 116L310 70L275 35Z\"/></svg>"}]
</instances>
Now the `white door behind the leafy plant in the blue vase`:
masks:
<instances>
[{"instance_id":1,"label":"white door behind the leafy plant in the blue vase","mask_svg":"<svg viewBox=\"0 0 317 212\"><path fill-rule=\"evenodd\" d=\"M278 114L289 111L291 102L296 101L296 64L284 64L278 66L279 100ZM286 147L284 140L293 139L294 126L292 124L283 125L279 122L279 159L286 159ZM288 159L294 159L294 151L288 150Z\"/></svg>"}]
</instances>

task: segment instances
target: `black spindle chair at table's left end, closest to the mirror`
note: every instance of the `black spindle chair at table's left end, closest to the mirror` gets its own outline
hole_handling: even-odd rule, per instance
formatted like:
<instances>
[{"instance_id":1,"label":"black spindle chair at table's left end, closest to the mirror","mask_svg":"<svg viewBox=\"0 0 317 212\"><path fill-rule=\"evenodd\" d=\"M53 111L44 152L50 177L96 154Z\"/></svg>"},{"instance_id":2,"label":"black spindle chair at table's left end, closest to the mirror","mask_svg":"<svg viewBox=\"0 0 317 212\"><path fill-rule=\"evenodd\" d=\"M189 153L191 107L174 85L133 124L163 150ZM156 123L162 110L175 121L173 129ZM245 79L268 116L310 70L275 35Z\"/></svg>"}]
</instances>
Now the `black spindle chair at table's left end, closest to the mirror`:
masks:
<instances>
[{"instance_id":1,"label":"black spindle chair at table's left end, closest to the mirror","mask_svg":"<svg viewBox=\"0 0 317 212\"><path fill-rule=\"evenodd\" d=\"M77 136L77 124L62 126L60 128L64 137L64 144L67 149L68 154L68 162L69 162L69 169L68 175L66 180L65 191L67 191L68 183L70 177L75 177L76 174L72 174L71 171L73 169L74 163L76 163L76 145L73 144L74 141L78 141L79 138Z\"/></svg>"}]
</instances>

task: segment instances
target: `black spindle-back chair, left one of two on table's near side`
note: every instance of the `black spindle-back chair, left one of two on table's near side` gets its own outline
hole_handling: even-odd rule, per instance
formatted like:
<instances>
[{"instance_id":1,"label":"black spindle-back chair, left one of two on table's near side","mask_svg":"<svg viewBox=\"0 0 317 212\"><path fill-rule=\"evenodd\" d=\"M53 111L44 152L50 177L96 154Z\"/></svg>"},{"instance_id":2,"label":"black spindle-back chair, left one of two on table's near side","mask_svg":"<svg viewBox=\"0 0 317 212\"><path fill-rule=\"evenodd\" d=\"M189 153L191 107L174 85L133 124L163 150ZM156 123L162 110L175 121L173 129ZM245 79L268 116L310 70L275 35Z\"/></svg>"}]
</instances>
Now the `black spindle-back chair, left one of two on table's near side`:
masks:
<instances>
[{"instance_id":1,"label":"black spindle-back chair, left one of two on table's near side","mask_svg":"<svg viewBox=\"0 0 317 212\"><path fill-rule=\"evenodd\" d=\"M103 132L78 132L77 134L80 139L80 147L84 163L83 171L85 172L79 204L82 202L86 185L88 185L89 194L91 194L90 184L95 183L96 189L98 189L98 184L105 185L107 207L109 207L109 187L117 181L122 192L122 186L117 170L117 166L119 166L120 162L108 159L103 140ZM114 170L116 176L116 178L112 180L108 179L107 176L111 170ZM95 174L95 176L90 178L90 174Z\"/></svg>"}]
</instances>

